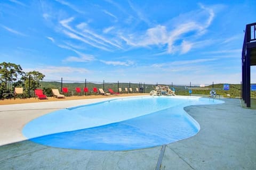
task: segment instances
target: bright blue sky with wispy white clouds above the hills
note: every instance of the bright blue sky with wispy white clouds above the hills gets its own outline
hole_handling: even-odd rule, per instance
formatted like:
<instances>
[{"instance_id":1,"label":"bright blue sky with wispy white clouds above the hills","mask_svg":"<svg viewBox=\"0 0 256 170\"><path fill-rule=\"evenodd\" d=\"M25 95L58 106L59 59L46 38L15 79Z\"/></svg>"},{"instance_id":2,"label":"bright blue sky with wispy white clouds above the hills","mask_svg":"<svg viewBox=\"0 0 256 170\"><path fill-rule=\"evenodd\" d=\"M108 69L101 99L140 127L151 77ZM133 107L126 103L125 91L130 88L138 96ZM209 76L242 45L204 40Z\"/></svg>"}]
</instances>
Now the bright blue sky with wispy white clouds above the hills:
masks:
<instances>
[{"instance_id":1,"label":"bright blue sky with wispy white clouds above the hills","mask_svg":"<svg viewBox=\"0 0 256 170\"><path fill-rule=\"evenodd\" d=\"M0 62L45 79L239 83L256 1L0 2ZM252 67L252 82L256 82Z\"/></svg>"}]
</instances>

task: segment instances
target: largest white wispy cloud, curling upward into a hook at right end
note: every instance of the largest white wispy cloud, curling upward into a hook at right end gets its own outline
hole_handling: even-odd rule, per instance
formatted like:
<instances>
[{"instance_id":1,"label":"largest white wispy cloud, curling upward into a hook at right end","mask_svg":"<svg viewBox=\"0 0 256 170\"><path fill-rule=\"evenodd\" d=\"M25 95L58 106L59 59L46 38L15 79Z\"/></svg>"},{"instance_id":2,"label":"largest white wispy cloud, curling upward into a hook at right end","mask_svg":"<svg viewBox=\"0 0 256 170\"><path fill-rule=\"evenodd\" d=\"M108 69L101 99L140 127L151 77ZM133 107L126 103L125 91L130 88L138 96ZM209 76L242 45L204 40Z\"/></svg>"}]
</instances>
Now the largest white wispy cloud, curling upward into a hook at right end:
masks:
<instances>
[{"instance_id":1,"label":"largest white wispy cloud, curling upward into a hook at right end","mask_svg":"<svg viewBox=\"0 0 256 170\"><path fill-rule=\"evenodd\" d=\"M130 5L132 6L131 3ZM201 8L202 11L201 15L205 15L205 13L208 14L208 17L204 21L193 21L193 18L191 19L190 17L190 21L187 21L185 23L178 23L172 30L169 30L167 25L158 24L155 27L147 29L145 33L139 32L136 34L133 33L129 35L121 34L120 38L123 39L127 43L127 45L134 47L167 45L167 53L173 54L179 51L180 54L186 54L192 48L194 48L195 44L197 44L196 42L194 42L195 37L203 35L205 33L205 30L207 29L207 27L210 26L214 18L214 11L211 8L205 7L202 4L199 4L199 7ZM189 40L189 37L186 37L186 40L184 40L183 36L188 33L191 34L190 37L194 35L193 39ZM181 44L178 43L180 41Z\"/></svg>"}]
</instances>

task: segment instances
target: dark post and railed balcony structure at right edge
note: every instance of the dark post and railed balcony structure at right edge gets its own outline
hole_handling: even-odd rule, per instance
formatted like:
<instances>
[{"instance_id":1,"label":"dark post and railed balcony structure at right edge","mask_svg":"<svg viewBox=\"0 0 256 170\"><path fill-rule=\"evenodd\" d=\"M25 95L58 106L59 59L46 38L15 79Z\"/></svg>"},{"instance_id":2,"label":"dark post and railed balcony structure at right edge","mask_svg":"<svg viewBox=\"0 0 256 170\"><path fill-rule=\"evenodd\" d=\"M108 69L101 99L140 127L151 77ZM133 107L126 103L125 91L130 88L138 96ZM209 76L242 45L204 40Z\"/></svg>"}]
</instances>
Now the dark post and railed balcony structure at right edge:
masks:
<instances>
[{"instance_id":1,"label":"dark post and railed balcony structure at right edge","mask_svg":"<svg viewBox=\"0 0 256 170\"><path fill-rule=\"evenodd\" d=\"M242 50L242 98L251 107L251 66L256 65L256 22L245 28Z\"/></svg>"}]
</instances>

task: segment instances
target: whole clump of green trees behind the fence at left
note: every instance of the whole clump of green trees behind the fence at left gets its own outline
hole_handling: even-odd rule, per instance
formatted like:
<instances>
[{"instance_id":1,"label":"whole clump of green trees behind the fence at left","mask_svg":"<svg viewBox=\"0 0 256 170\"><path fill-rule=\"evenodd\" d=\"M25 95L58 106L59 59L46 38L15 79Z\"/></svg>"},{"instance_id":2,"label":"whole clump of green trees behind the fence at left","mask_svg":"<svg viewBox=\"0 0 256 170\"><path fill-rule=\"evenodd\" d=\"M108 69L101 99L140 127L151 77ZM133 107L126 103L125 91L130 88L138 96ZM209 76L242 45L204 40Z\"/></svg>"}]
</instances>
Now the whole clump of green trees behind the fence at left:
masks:
<instances>
[{"instance_id":1,"label":"whole clump of green trees behind the fence at left","mask_svg":"<svg viewBox=\"0 0 256 170\"><path fill-rule=\"evenodd\" d=\"M0 63L0 98L3 94L11 94L15 87L22 87L25 94L29 90L39 88L39 81L43 80L44 74L38 71L24 72L20 65L14 63ZM18 80L18 81L17 81ZM8 84L12 83L12 86Z\"/></svg>"}]
</instances>

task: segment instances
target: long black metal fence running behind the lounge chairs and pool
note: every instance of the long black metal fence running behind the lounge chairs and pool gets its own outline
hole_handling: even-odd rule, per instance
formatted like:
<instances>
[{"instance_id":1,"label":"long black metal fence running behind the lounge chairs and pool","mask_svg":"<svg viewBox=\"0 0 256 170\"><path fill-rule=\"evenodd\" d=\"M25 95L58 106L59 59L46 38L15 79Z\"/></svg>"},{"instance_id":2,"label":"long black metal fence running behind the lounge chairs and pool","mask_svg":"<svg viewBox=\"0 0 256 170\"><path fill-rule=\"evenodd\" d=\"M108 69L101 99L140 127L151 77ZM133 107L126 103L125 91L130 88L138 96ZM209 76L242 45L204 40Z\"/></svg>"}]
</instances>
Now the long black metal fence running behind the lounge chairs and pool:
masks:
<instances>
[{"instance_id":1,"label":"long black metal fence running behind the lounge chairs and pool","mask_svg":"<svg viewBox=\"0 0 256 170\"><path fill-rule=\"evenodd\" d=\"M20 81L20 80L17 80ZM28 81L30 82L30 81ZM31 81L32 82L32 81ZM1 83L1 82L0 82ZM215 90L217 93L217 97L228 97L228 98L241 98L242 96L242 85L241 84L225 84L225 83L218 83L218 84L192 84L191 82L187 84L149 84L149 83L134 83L134 82L93 82L87 81L69 81L63 80L41 80L36 83L36 86L29 83L21 83L19 87L23 87L23 92L26 97L34 97L34 90L35 89L42 89L46 96L52 96L51 89L59 89L62 92L62 88L66 87L69 90L69 95L78 95L76 92L76 88L80 88L82 90L81 94L85 95L83 91L84 87L87 87L90 92L93 91L93 88L102 88L105 92L108 92L108 89L113 89L115 92L120 92L119 88L122 89L121 93L133 93L133 92L140 92L140 93L148 93L151 90L154 90L157 85L164 85L169 86L170 88L175 89L176 95L186 95L186 96L210 96L210 91ZM7 92L10 94L13 93L15 86L17 83L9 82L7 83ZM256 84L252 84L252 87L255 87ZM226 87L226 88L225 88ZM228 87L228 88L227 88ZM130 90L131 88L131 90ZM125 91L127 89L127 91ZM138 91L136 91L138 90ZM3 94L0 94L1 98L3 98ZM66 95L66 94L65 94ZM256 98L256 91L254 88L251 90L251 98Z\"/></svg>"}]
</instances>

